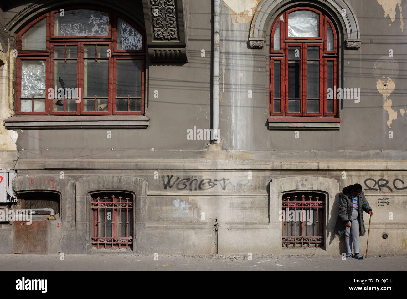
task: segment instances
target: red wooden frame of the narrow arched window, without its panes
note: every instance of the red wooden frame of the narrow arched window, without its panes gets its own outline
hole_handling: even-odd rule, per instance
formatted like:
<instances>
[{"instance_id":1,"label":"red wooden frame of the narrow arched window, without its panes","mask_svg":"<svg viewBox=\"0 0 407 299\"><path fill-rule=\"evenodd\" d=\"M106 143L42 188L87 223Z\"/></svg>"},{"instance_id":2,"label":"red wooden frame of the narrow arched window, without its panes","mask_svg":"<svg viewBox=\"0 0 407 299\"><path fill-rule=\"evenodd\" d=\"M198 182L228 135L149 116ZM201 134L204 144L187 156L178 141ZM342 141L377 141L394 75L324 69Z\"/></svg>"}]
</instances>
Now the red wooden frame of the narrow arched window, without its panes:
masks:
<instances>
[{"instance_id":1,"label":"red wooden frame of the narrow arched window, without its panes","mask_svg":"<svg viewBox=\"0 0 407 299\"><path fill-rule=\"evenodd\" d=\"M288 15L293 11L308 10L313 11L319 15L319 37L289 37L288 36ZM327 24L330 24L334 33L334 50L327 51ZM280 24L280 50L274 50L274 34L277 25ZM274 20L270 31L270 98L269 98L269 112L270 116L277 116L269 118L273 122L337 122L338 117L338 101L334 102L333 113L326 112L326 88L327 88L327 61L334 61L333 77L334 85L338 86L338 39L335 26L327 15L310 7L296 7L289 9L278 15ZM300 112L288 112L288 48L289 46L299 46L301 48L300 58L300 96L301 96L301 109ZM306 112L306 72L307 72L307 46L319 47L319 112ZM280 69L280 111L274 112L274 61L279 60ZM284 92L283 92L284 91Z\"/></svg>"}]
</instances>

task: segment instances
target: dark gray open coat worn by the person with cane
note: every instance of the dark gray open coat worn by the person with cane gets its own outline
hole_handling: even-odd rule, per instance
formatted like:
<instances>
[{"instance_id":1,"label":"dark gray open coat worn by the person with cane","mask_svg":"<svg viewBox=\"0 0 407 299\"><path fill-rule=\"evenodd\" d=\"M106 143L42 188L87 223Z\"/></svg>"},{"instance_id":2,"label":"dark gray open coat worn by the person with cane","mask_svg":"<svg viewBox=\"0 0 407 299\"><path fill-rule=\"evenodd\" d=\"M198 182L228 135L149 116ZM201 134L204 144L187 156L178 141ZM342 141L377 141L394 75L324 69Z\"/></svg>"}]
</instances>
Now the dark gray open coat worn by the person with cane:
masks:
<instances>
[{"instance_id":1,"label":"dark gray open coat worn by the person with cane","mask_svg":"<svg viewBox=\"0 0 407 299\"><path fill-rule=\"evenodd\" d=\"M336 220L336 225L335 225L335 230L334 233L338 237L342 236L345 232L346 229L346 223L349 222L350 216L352 215L352 209L353 209L353 201L352 201L352 186L350 185L348 187L345 187L341 194L339 196L339 204L338 204L338 218ZM369 213L369 211L372 211L372 208L369 206L368 201L366 200L365 194L363 191L359 194L358 196L358 202L359 202L359 217L360 217L360 229L359 229L359 234L363 236L366 232L365 230L365 222L363 221L363 211L366 213Z\"/></svg>"}]
</instances>

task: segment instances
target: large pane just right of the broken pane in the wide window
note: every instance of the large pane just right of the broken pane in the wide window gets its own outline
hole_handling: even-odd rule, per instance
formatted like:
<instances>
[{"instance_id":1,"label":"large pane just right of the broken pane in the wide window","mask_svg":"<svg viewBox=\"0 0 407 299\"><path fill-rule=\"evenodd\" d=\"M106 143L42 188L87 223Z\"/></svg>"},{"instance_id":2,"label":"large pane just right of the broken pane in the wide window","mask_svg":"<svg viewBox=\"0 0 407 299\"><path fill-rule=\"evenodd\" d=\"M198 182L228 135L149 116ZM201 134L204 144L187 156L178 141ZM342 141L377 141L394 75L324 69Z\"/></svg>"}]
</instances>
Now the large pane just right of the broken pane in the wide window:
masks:
<instances>
[{"instance_id":1,"label":"large pane just right of the broken pane in the wide window","mask_svg":"<svg viewBox=\"0 0 407 299\"><path fill-rule=\"evenodd\" d=\"M109 96L108 60L85 60L83 87L85 89L83 91L84 97L107 98Z\"/></svg>"}]
</instances>

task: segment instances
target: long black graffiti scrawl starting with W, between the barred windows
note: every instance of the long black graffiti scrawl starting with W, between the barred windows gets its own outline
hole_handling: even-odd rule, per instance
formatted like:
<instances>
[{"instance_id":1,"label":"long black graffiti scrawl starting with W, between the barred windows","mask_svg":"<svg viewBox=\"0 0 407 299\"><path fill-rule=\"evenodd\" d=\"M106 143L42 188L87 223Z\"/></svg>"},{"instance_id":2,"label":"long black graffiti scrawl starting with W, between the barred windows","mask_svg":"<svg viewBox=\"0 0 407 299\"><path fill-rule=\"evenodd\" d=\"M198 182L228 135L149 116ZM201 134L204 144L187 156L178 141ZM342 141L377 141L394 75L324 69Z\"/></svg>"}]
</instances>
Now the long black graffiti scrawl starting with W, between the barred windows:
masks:
<instances>
[{"instance_id":1,"label":"long black graffiti scrawl starting with W, between the barred windows","mask_svg":"<svg viewBox=\"0 0 407 299\"><path fill-rule=\"evenodd\" d=\"M162 177L163 183L163 188L165 189L171 189L175 186L178 190L186 190L188 187L189 191L197 191L197 190L209 190L214 188L215 186L219 185L223 191L226 190L226 187L231 186L233 190L236 188L241 188L241 187L249 187L253 186L249 184L248 179L242 179L238 181L236 184L232 184L230 182L230 179L201 179L200 181L198 179L194 179L193 177L183 177L182 179L180 177L177 177L175 181L173 180L173 176L171 177L169 175L166 176L166 178L163 176Z\"/></svg>"}]
</instances>

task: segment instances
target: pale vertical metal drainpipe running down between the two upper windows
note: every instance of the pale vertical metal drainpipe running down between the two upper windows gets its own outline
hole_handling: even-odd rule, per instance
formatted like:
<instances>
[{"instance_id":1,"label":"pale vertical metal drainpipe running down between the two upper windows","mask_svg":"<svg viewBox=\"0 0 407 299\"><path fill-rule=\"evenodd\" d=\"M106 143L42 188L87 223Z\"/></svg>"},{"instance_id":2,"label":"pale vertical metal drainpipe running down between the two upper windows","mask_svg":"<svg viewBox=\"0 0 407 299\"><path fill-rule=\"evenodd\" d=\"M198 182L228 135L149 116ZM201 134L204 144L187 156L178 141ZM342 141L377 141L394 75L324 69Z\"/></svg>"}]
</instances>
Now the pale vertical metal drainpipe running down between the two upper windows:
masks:
<instances>
[{"instance_id":1,"label":"pale vertical metal drainpipe running down between the two upper windows","mask_svg":"<svg viewBox=\"0 0 407 299\"><path fill-rule=\"evenodd\" d=\"M212 129L213 140L219 142L219 14L221 0L213 0L213 74L212 74Z\"/></svg>"}]
</instances>

